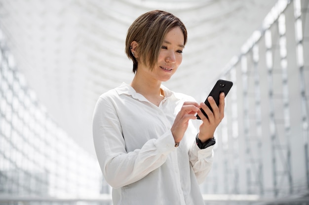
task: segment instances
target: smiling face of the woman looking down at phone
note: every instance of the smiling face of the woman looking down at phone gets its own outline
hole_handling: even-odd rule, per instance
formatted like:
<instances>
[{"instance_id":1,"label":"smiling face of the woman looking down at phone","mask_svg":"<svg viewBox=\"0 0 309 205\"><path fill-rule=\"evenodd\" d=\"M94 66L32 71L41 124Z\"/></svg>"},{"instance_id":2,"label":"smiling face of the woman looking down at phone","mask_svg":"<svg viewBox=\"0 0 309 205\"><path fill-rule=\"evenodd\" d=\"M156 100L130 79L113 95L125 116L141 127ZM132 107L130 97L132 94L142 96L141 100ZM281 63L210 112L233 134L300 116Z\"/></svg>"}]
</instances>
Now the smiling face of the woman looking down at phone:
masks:
<instances>
[{"instance_id":1,"label":"smiling face of the woman looking down at phone","mask_svg":"<svg viewBox=\"0 0 309 205\"><path fill-rule=\"evenodd\" d=\"M142 70L148 72L155 80L161 82L169 80L182 62L183 49L184 34L180 27L175 27L166 34L154 69L150 70L148 67L141 65Z\"/></svg>"}]
</instances>

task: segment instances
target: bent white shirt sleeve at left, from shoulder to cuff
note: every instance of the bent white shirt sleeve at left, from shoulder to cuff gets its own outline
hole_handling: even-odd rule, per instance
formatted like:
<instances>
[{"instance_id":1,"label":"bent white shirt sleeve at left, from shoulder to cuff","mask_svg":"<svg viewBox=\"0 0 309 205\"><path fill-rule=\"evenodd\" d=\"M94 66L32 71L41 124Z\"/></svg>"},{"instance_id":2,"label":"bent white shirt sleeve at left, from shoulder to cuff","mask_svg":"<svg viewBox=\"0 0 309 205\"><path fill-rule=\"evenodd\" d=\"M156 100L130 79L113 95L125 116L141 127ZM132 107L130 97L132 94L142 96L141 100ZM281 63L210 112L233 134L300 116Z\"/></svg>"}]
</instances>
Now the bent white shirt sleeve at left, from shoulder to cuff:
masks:
<instances>
[{"instance_id":1,"label":"bent white shirt sleeve at left, from shoulder to cuff","mask_svg":"<svg viewBox=\"0 0 309 205\"><path fill-rule=\"evenodd\" d=\"M145 177L160 167L175 150L170 130L148 140L140 149L126 152L121 124L112 102L99 98L93 114L93 140L106 181L119 188Z\"/></svg>"}]
</instances>

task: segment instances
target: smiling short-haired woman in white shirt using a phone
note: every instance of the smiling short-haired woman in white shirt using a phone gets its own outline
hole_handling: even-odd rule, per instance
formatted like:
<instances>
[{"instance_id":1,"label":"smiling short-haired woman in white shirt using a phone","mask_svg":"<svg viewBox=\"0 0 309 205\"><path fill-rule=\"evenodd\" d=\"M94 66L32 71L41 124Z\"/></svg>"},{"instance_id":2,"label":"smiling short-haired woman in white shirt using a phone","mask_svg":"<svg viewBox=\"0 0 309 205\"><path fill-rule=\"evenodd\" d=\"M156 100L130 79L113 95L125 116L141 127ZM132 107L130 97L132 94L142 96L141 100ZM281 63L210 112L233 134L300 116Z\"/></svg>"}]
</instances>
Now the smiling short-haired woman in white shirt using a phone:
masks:
<instances>
[{"instance_id":1,"label":"smiling short-haired woman in white shirt using a phone","mask_svg":"<svg viewBox=\"0 0 309 205\"><path fill-rule=\"evenodd\" d=\"M126 54L135 76L130 85L100 96L93 139L114 205L201 205L198 184L211 169L214 132L224 117L190 96L161 85L182 62L187 30L174 15L154 10L138 17L127 32ZM202 108L208 118L200 111ZM199 132L191 120L201 118Z\"/></svg>"}]
</instances>

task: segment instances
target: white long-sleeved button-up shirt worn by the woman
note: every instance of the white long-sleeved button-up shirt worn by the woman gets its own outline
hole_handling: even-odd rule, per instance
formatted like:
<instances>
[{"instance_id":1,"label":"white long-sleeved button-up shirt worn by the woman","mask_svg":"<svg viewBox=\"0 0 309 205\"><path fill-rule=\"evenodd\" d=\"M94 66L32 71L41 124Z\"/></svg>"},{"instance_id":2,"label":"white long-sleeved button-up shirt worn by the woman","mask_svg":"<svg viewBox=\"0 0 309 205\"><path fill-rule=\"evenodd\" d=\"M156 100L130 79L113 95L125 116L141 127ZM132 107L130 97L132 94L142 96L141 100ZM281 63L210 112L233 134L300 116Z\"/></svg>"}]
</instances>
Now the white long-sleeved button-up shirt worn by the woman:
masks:
<instances>
[{"instance_id":1,"label":"white long-sleeved button-up shirt worn by the woman","mask_svg":"<svg viewBox=\"0 0 309 205\"><path fill-rule=\"evenodd\" d=\"M212 167L213 146L200 150L192 120L179 147L171 133L190 96L161 86L159 106L122 83L100 96L93 139L114 205L203 205L199 184Z\"/></svg>"}]
</instances>

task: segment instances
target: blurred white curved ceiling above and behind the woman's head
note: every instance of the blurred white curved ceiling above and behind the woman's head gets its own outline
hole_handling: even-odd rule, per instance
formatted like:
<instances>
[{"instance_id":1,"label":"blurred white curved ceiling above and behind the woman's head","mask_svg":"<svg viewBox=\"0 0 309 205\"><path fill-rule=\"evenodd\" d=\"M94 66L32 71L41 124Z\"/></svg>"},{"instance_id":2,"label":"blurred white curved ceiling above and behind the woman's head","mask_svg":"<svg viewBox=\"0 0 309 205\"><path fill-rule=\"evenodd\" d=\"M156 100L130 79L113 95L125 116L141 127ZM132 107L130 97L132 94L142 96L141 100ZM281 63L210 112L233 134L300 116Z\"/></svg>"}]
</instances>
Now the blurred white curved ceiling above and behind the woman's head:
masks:
<instances>
[{"instance_id":1,"label":"blurred white curved ceiling above and behind the woman's head","mask_svg":"<svg viewBox=\"0 0 309 205\"><path fill-rule=\"evenodd\" d=\"M95 102L133 78L124 41L135 18L162 9L185 23L183 63L165 85L203 101L209 83L261 28L276 1L0 0L0 28L17 68L50 117L94 154Z\"/></svg>"}]
</instances>

